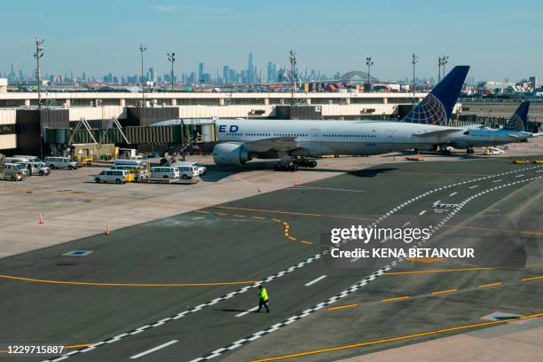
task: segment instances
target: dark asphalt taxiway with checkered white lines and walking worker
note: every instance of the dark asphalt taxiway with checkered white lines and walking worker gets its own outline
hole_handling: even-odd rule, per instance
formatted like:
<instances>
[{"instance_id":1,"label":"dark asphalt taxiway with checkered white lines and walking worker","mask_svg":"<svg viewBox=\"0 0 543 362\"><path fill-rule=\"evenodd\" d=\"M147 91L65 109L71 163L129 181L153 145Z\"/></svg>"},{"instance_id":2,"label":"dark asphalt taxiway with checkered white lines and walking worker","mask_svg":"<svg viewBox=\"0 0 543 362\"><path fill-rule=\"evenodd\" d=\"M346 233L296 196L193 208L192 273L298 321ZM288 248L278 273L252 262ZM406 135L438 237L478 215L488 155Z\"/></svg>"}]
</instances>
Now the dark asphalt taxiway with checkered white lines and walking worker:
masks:
<instances>
[{"instance_id":1,"label":"dark asphalt taxiway with checkered white lines and walking worker","mask_svg":"<svg viewBox=\"0 0 543 362\"><path fill-rule=\"evenodd\" d=\"M520 281L543 274L541 170L506 159L382 165L7 257L0 341L74 346L17 360L234 361L480 322L493 311L543 312L543 279ZM476 257L338 264L321 232L340 224L432 225L420 247L474 248ZM64 256L74 250L91 253ZM261 280L271 313L250 311Z\"/></svg>"}]
</instances>

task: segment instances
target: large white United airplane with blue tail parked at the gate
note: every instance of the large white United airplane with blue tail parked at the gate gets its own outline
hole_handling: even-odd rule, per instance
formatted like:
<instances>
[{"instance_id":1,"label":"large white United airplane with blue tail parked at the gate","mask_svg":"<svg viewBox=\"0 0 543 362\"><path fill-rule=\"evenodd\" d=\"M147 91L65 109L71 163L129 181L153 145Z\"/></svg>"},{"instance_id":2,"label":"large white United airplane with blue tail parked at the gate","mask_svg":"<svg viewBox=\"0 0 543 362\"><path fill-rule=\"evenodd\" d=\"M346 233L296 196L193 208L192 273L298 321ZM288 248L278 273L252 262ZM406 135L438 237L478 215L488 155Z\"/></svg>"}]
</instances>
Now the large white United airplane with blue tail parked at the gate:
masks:
<instances>
[{"instance_id":1,"label":"large white United airplane with blue tail parked at the gate","mask_svg":"<svg viewBox=\"0 0 543 362\"><path fill-rule=\"evenodd\" d=\"M454 67L404 122L218 120L213 160L240 166L254 158L279 159L276 170L295 171L316 167L312 158L328 154L369 155L443 144L462 130L446 124L468 70Z\"/></svg>"}]
</instances>

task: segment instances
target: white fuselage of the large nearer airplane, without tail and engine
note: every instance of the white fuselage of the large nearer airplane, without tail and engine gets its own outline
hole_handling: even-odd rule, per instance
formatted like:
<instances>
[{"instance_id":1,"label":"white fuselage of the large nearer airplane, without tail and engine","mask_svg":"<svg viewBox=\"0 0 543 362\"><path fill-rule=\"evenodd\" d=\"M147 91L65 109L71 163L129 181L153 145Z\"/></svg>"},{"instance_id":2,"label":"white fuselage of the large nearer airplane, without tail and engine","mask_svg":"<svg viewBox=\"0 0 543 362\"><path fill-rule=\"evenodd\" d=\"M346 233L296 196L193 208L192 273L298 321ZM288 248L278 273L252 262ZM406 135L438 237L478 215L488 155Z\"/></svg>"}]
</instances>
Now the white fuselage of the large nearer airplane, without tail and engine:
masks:
<instances>
[{"instance_id":1,"label":"white fuselage of the large nearer airplane, without tail and engine","mask_svg":"<svg viewBox=\"0 0 543 362\"><path fill-rule=\"evenodd\" d=\"M220 142L243 144L253 157L259 157L257 141L269 138L294 138L297 146L287 151L289 156L369 155L443 143L448 139L444 133L424 134L458 130L404 122L321 120L219 120L216 127Z\"/></svg>"}]
</instances>

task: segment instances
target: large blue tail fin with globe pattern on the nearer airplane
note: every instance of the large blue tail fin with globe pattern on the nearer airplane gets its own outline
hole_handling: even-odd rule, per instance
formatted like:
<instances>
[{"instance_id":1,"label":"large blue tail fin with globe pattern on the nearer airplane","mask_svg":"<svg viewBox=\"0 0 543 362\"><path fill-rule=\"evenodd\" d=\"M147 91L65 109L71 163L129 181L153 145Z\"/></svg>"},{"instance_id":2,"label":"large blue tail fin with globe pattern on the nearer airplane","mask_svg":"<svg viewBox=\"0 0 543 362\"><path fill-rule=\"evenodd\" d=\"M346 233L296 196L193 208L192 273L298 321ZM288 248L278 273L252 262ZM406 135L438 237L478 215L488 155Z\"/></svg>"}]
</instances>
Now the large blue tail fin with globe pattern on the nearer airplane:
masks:
<instances>
[{"instance_id":1,"label":"large blue tail fin with globe pattern on the nearer airplane","mask_svg":"<svg viewBox=\"0 0 543 362\"><path fill-rule=\"evenodd\" d=\"M460 96L462 85L468 75L468 66L456 66L439 82L421 103L405 115L402 122L435 124L446 126Z\"/></svg>"}]
</instances>

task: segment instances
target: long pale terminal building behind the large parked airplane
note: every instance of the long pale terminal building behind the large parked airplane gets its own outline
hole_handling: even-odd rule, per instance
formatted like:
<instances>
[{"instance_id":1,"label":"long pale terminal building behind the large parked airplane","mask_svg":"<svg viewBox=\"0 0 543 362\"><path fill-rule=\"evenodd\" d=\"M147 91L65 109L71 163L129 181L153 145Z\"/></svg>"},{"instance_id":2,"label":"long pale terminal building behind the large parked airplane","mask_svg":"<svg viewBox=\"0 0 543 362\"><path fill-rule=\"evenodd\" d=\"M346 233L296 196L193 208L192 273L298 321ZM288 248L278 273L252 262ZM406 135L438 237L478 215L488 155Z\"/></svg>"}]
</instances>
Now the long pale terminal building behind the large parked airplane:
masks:
<instances>
[{"instance_id":1,"label":"long pale terminal building behind the large parked airplane","mask_svg":"<svg viewBox=\"0 0 543 362\"><path fill-rule=\"evenodd\" d=\"M201 141L212 143L214 132L209 128L201 130L201 124L210 124L216 118L397 119L407 114L426 93L345 91L294 96L293 100L287 92L43 92L43 106L37 109L35 92L0 92L0 153L45 156L51 154L51 147L43 147L43 143L51 143L51 138L58 144L66 143L67 135L76 127L91 134L83 129L81 122L85 123L85 129L98 131L111 126L112 119L118 120L123 129L138 128L130 130L130 134L153 140L153 144L180 142L177 138L157 136L177 131L160 133L149 128L170 120L192 125L193 130L197 124L200 137L205 136ZM51 129L59 132L51 133ZM190 127L185 127L181 134L190 133ZM86 136L80 138L88 140ZM138 144L134 140L130 143Z\"/></svg>"}]
</instances>

